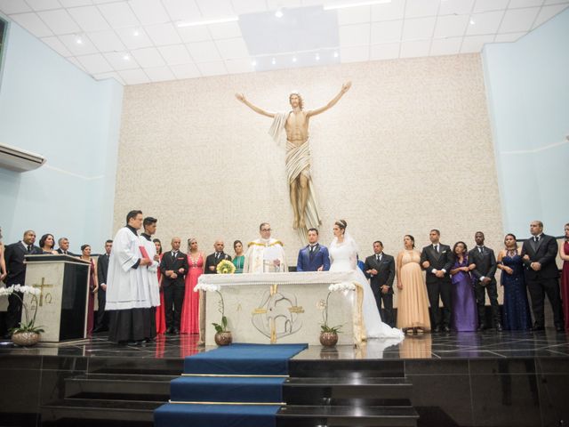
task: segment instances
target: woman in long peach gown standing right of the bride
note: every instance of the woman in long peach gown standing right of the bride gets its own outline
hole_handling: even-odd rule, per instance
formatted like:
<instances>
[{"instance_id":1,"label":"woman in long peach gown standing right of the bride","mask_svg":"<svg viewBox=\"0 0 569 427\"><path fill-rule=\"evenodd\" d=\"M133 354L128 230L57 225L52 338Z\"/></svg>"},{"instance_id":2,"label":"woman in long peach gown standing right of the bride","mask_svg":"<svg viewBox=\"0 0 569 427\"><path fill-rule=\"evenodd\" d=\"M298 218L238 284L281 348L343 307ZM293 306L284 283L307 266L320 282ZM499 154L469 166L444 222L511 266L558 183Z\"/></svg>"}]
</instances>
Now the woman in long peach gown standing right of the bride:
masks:
<instances>
[{"instance_id":1,"label":"woman in long peach gown standing right of the bride","mask_svg":"<svg viewBox=\"0 0 569 427\"><path fill-rule=\"evenodd\" d=\"M397 254L397 327L417 334L430 330L429 298L415 238L406 234L403 245L405 249Z\"/></svg>"}]
</instances>

